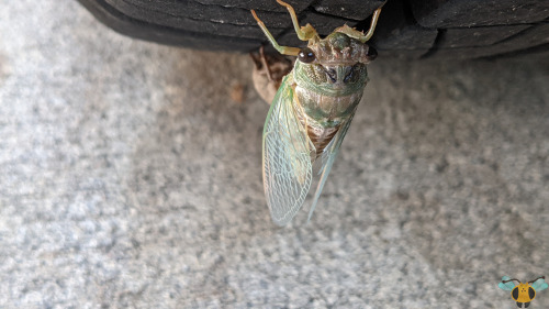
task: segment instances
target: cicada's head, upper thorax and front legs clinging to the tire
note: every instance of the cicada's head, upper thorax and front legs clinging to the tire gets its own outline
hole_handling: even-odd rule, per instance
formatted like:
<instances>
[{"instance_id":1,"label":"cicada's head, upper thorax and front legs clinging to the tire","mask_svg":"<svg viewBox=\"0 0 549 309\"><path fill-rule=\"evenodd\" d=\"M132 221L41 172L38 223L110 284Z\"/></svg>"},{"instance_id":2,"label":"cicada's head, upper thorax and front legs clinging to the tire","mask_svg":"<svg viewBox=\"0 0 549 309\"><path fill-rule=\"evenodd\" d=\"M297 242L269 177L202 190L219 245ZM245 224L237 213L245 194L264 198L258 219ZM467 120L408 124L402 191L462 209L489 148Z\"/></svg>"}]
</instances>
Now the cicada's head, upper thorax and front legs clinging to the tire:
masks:
<instances>
[{"instance_id":1,"label":"cicada's head, upper thorax and front legs clinging to the tire","mask_svg":"<svg viewBox=\"0 0 549 309\"><path fill-rule=\"evenodd\" d=\"M366 65L378 55L366 42L373 34L381 8L374 11L366 34L344 25L321 38L311 24L300 26L298 15L290 4L282 0L277 2L288 9L298 37L307 41L307 47L280 46L256 12L253 10L251 13L277 51L284 55L298 56L293 70L298 84L301 81L304 88L330 97L355 93L366 86Z\"/></svg>"}]
</instances>

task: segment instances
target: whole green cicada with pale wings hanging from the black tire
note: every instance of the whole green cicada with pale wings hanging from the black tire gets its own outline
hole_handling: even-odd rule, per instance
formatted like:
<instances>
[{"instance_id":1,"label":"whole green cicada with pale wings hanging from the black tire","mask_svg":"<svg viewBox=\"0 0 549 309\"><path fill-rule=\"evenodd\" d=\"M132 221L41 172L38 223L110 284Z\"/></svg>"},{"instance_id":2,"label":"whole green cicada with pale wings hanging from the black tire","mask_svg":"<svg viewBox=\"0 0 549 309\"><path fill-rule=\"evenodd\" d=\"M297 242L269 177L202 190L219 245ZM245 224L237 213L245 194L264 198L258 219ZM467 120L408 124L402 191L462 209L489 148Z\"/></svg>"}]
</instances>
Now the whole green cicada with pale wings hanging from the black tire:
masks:
<instances>
[{"instance_id":1,"label":"whole green cicada with pale wings hanging from the black tire","mask_svg":"<svg viewBox=\"0 0 549 309\"><path fill-rule=\"evenodd\" d=\"M305 201L313 162L321 158L322 176L309 219L313 214L368 82L366 66L377 56L366 42L373 34L381 8L373 13L368 33L344 25L321 38L311 24L300 27L290 4L277 2L290 12L298 37L309 42L304 48L280 46L251 10L274 48L298 56L272 100L262 135L267 205L274 223L284 225Z\"/></svg>"}]
</instances>

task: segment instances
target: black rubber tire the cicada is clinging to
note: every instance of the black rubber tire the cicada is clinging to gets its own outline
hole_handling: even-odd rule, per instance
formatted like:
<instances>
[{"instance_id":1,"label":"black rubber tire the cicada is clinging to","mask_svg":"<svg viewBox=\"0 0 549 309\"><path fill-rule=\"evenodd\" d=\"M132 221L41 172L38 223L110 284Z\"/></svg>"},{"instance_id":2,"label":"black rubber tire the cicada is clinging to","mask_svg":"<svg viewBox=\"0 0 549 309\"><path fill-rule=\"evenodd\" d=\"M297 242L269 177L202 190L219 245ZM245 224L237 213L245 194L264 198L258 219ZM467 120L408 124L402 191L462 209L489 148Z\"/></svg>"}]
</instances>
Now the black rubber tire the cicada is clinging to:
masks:
<instances>
[{"instance_id":1,"label":"black rubber tire the cicada is clinging to","mask_svg":"<svg viewBox=\"0 0 549 309\"><path fill-rule=\"evenodd\" d=\"M281 45L304 46L274 0L78 0L113 30L160 44L256 49L267 40L250 9ZM382 0L293 0L302 25L321 35L343 24L367 30ZM380 56L478 58L549 51L547 0L389 0L371 44Z\"/></svg>"}]
</instances>

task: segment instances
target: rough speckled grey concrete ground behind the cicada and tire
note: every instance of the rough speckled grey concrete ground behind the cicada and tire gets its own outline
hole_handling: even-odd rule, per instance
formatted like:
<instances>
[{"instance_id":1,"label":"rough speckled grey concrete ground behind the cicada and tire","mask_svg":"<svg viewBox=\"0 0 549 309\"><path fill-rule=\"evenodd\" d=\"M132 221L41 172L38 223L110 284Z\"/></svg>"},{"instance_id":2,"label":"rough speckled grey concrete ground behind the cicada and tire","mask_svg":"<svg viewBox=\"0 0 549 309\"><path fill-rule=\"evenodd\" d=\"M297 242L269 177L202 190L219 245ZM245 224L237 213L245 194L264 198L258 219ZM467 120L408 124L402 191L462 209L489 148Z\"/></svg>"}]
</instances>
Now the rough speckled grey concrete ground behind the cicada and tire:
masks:
<instances>
[{"instance_id":1,"label":"rough speckled grey concrete ground behind the cicada and tire","mask_svg":"<svg viewBox=\"0 0 549 309\"><path fill-rule=\"evenodd\" d=\"M75 1L2 5L0 308L516 308L503 275L549 276L547 57L381 56L283 229L250 70Z\"/></svg>"}]
</instances>

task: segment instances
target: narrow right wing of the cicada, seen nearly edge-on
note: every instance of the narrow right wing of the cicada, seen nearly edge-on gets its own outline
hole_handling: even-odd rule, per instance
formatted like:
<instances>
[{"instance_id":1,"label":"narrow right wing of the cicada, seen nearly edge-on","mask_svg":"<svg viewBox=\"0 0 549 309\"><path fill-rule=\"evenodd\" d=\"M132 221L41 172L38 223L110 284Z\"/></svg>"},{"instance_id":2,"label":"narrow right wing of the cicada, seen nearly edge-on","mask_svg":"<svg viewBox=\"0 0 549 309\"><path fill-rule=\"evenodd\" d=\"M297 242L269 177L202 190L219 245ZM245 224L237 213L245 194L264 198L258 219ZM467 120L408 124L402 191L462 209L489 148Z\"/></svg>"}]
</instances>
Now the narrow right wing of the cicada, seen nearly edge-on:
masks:
<instances>
[{"instance_id":1,"label":"narrow right wing of the cicada, seen nearly edge-on","mask_svg":"<svg viewBox=\"0 0 549 309\"><path fill-rule=\"evenodd\" d=\"M351 115L341 124L339 131L337 131L334 139L329 142L329 144L324 148L324 153L322 154L322 167L321 167L321 179L318 180L318 185L316 186L316 191L314 194L313 203L311 206L311 210L309 211L309 220L313 216L313 211L316 208L316 203L318 202L318 198L321 197L322 189L326 184L326 179L328 178L329 170L332 169L332 165L334 165L334 161L337 157L339 148L341 147L343 140L349 130L352 118L355 117L355 111L352 111Z\"/></svg>"}]
</instances>

